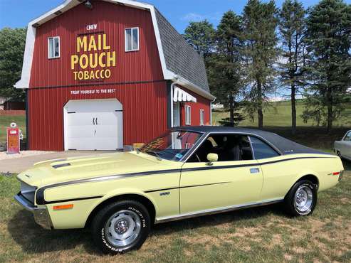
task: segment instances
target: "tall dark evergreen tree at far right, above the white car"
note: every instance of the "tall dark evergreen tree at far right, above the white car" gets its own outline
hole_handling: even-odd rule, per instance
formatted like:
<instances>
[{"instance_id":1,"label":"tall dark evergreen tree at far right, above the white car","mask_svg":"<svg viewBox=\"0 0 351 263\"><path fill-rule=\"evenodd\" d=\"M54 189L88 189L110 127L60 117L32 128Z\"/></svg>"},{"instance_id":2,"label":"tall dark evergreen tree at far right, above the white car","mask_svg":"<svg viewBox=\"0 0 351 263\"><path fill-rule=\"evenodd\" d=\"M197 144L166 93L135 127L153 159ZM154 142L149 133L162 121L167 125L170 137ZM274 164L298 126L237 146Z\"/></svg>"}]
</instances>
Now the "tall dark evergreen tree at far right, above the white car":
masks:
<instances>
[{"instance_id":1,"label":"tall dark evergreen tree at far right, above the white car","mask_svg":"<svg viewBox=\"0 0 351 263\"><path fill-rule=\"evenodd\" d=\"M322 0L313 6L306 43L310 85L303 119L326 124L330 132L351 85L351 6L342 0Z\"/></svg>"}]
</instances>

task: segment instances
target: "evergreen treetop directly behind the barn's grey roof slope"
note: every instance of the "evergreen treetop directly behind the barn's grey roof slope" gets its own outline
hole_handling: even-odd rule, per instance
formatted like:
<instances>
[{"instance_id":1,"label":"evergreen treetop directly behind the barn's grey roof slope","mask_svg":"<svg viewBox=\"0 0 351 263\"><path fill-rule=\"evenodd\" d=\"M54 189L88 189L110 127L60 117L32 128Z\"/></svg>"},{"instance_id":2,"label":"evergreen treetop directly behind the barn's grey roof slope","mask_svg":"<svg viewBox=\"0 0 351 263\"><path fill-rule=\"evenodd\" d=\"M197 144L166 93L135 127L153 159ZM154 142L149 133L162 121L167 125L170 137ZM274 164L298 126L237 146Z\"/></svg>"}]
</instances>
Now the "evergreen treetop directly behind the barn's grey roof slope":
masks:
<instances>
[{"instance_id":1,"label":"evergreen treetop directly behind the barn's grey roof slope","mask_svg":"<svg viewBox=\"0 0 351 263\"><path fill-rule=\"evenodd\" d=\"M208 64L209 55L214 51L214 26L209 21L190 22L185 28L184 38Z\"/></svg>"}]
</instances>

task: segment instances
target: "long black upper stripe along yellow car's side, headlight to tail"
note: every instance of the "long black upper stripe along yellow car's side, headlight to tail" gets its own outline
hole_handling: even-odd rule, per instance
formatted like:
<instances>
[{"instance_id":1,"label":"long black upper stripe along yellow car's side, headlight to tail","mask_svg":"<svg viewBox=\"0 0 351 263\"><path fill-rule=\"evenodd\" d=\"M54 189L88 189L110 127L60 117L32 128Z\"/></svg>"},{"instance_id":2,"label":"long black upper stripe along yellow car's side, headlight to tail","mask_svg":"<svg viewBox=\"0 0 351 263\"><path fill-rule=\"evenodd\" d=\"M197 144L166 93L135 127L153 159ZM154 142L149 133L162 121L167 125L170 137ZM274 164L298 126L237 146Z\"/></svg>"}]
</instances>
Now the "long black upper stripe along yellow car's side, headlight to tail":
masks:
<instances>
[{"instance_id":1,"label":"long black upper stripe along yellow car's side, headlight to tail","mask_svg":"<svg viewBox=\"0 0 351 263\"><path fill-rule=\"evenodd\" d=\"M226 169L226 168L239 168L239 167L248 167L248 166L263 166L271 163L280 163L282 161L291 161L291 160L296 160L296 159L329 159L329 158L334 158L334 157L294 157L290 159L283 159L283 160L276 160L276 161L266 161L264 163L247 163L247 164L234 164L230 166L204 166L204 167L197 167L197 168L183 168L183 169L169 169L169 170L159 170L159 171L146 171L146 172L138 172L138 173L122 173L122 174L114 174L110 176L99 176L95 178L85 178L85 179L78 179L75 181L68 181L68 182L63 182L63 183L53 183L52 185L48 186L43 186L42 188L39 188L36 191L36 203L38 205L44 205L45 204L45 199L44 199L44 190L48 188L54 188L58 186L68 186L71 184L76 184L76 183L92 183L95 181L109 181L109 180L115 180L118 178L129 178L129 177L135 177L135 176L151 176L154 174L159 174L159 173L177 173L177 172L187 172L187 171L201 171L201 170L216 170L216 169ZM338 158L338 157L335 157Z\"/></svg>"}]
</instances>

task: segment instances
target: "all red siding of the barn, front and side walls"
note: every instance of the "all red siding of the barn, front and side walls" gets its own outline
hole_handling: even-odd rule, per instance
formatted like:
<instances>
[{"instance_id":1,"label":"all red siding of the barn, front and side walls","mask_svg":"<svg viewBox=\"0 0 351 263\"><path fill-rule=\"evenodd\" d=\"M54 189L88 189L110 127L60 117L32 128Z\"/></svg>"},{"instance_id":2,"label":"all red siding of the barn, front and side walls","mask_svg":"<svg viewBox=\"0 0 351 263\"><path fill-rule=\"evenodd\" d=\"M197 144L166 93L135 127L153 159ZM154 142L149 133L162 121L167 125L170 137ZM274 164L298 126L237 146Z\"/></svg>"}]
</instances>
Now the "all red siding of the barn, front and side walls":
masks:
<instances>
[{"instance_id":1,"label":"all red siding of the barn, front and side walls","mask_svg":"<svg viewBox=\"0 0 351 263\"><path fill-rule=\"evenodd\" d=\"M98 28L88 31L86 26L91 24L97 24ZM140 50L125 52L125 28L132 27L140 29ZM109 79L74 80L70 56L78 54L76 38L82 33L96 35L97 32L106 34L110 50L116 52L116 66L109 68ZM48 37L53 36L60 37L61 57L48 59ZM71 94L73 90L100 89L114 91ZM192 125L199 125L200 108L205 109L205 123L209 122L209 100L190 93L198 100L192 104ZM122 103L124 145L145 143L167 130L167 82L162 74L150 11L97 0L93 1L93 10L79 4L38 26L28 88L30 149L64 149L63 107L69 100L108 98Z\"/></svg>"}]
</instances>

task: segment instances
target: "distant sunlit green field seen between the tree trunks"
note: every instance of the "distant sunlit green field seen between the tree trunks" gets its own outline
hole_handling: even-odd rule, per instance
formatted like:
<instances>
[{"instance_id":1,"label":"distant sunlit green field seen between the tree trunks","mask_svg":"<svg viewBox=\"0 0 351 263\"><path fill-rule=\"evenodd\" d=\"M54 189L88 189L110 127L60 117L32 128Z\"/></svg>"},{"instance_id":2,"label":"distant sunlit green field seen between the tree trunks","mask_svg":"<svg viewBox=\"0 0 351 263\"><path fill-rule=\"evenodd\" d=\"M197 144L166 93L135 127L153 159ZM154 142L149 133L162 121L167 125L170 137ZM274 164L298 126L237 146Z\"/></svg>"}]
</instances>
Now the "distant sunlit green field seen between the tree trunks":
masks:
<instances>
[{"instance_id":1,"label":"distant sunlit green field seen between the tree trunks","mask_svg":"<svg viewBox=\"0 0 351 263\"><path fill-rule=\"evenodd\" d=\"M301 127L311 127L315 124L312 121L303 122L300 115L303 113L303 102L298 101L296 105L297 119L296 125ZM225 117L229 117L229 112L212 112L212 124L219 125L219 121ZM252 122L248 117L239 124L240 126L257 126L257 117ZM290 101L271 102L263 112L263 125L275 127L290 127L291 125L291 104ZM342 117L337 119L333 125L335 127L351 127L351 104L345 104L345 110Z\"/></svg>"}]
</instances>

